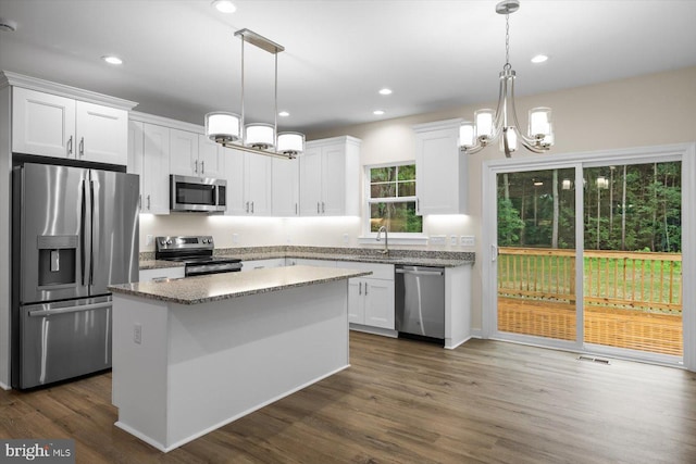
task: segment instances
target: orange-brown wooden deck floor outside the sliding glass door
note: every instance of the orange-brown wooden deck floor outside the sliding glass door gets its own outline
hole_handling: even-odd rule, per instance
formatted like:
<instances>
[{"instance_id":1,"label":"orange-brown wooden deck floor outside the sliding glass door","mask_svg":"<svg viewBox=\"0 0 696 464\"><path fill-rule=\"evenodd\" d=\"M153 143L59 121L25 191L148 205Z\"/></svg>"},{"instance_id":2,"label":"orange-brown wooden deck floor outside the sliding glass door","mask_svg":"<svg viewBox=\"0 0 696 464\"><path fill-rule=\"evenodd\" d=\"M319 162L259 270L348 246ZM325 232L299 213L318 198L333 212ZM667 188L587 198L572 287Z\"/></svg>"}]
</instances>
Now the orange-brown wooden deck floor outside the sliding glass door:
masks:
<instances>
[{"instance_id":1,"label":"orange-brown wooden deck floor outside the sliding glass door","mask_svg":"<svg viewBox=\"0 0 696 464\"><path fill-rule=\"evenodd\" d=\"M564 302L498 298L498 330L575 339L575 306ZM682 316L598 306L585 309L585 342L682 355Z\"/></svg>"}]
</instances>

